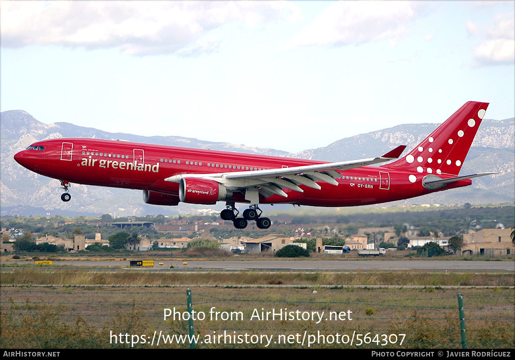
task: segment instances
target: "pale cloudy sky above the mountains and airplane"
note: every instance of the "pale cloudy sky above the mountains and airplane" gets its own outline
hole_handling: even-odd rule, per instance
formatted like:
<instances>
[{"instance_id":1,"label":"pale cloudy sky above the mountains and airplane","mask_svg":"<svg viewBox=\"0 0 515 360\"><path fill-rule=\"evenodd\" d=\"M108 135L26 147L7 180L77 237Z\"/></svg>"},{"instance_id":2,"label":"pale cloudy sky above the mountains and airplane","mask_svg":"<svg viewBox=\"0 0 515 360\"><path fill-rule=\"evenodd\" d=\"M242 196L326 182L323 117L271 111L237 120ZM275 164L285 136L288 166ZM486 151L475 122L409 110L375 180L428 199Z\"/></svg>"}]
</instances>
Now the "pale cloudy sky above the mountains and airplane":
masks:
<instances>
[{"instance_id":1,"label":"pale cloudy sky above the mountains and airplane","mask_svg":"<svg viewBox=\"0 0 515 360\"><path fill-rule=\"evenodd\" d=\"M16 2L1 110L289 152L467 101L514 117L515 2Z\"/></svg>"}]
</instances>

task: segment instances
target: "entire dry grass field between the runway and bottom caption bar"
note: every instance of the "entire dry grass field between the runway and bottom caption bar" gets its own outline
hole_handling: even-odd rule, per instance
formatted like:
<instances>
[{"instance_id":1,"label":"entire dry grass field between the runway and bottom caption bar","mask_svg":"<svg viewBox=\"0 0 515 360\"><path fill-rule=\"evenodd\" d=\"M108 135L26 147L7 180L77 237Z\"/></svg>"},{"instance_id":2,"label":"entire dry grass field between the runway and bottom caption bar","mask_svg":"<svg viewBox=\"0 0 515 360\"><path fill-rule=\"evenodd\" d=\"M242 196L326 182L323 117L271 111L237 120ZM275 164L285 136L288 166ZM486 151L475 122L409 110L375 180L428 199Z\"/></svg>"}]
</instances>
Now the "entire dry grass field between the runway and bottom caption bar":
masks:
<instances>
[{"instance_id":1,"label":"entire dry grass field between the runway and bottom caption bar","mask_svg":"<svg viewBox=\"0 0 515 360\"><path fill-rule=\"evenodd\" d=\"M2 272L1 282L2 348L188 348L190 342L177 337L188 334L186 288L180 284L216 285L192 287L197 348L460 349L458 293L469 349L515 348L515 303L508 288L513 274L23 268ZM245 284L263 287L238 286ZM166 308L175 308L175 320L164 320ZM272 310L289 315L261 318Z\"/></svg>"}]
</instances>

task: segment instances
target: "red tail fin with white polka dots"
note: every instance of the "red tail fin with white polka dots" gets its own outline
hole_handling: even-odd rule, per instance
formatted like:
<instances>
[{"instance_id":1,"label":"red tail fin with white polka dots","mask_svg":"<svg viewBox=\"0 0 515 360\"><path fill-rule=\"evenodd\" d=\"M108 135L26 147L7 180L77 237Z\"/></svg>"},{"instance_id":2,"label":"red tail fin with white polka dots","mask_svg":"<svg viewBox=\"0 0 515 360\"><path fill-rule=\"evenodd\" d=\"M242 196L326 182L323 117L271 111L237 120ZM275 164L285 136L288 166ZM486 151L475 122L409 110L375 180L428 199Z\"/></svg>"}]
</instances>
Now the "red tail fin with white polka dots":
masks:
<instances>
[{"instance_id":1,"label":"red tail fin with white polka dots","mask_svg":"<svg viewBox=\"0 0 515 360\"><path fill-rule=\"evenodd\" d=\"M469 101L408 155L384 167L458 175L487 107L488 103Z\"/></svg>"}]
</instances>

